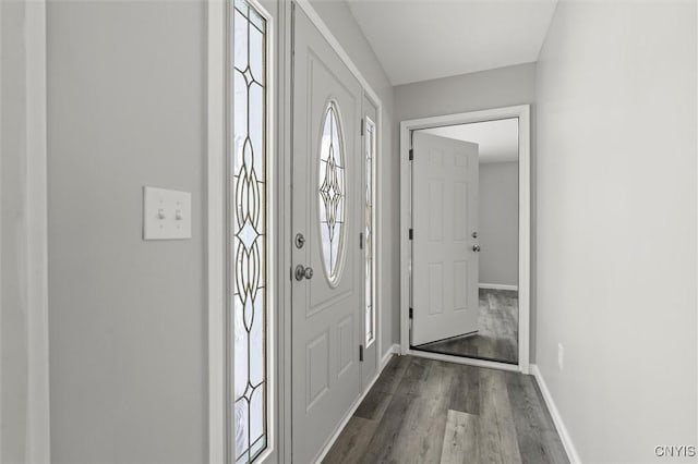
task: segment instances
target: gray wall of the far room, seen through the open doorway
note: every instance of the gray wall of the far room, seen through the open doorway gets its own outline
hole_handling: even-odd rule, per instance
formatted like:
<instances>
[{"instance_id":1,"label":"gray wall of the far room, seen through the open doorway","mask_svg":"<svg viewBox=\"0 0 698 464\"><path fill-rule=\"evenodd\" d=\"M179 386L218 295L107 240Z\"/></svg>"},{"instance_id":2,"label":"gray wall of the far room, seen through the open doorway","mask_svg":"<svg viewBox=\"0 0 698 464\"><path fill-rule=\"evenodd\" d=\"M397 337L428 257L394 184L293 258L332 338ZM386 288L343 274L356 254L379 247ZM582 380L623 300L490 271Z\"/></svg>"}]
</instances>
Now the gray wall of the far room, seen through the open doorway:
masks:
<instances>
[{"instance_id":1,"label":"gray wall of the far room, seen through the open doorway","mask_svg":"<svg viewBox=\"0 0 698 464\"><path fill-rule=\"evenodd\" d=\"M480 163L480 283L518 285L519 164Z\"/></svg>"}]
</instances>

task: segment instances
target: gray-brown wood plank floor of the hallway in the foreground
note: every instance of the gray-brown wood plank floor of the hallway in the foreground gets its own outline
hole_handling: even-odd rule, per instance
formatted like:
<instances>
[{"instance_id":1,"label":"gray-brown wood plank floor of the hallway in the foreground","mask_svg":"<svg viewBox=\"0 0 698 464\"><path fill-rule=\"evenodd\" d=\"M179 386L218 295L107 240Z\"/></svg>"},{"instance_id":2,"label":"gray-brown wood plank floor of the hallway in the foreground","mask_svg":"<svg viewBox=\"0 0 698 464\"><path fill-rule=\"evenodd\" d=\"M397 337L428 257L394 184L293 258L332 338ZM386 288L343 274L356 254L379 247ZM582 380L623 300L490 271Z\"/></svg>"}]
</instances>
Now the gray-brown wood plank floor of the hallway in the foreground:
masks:
<instances>
[{"instance_id":1,"label":"gray-brown wood plank floor of the hallway in the foreground","mask_svg":"<svg viewBox=\"0 0 698 464\"><path fill-rule=\"evenodd\" d=\"M531 376L394 356L324 463L567 463Z\"/></svg>"}]
</instances>

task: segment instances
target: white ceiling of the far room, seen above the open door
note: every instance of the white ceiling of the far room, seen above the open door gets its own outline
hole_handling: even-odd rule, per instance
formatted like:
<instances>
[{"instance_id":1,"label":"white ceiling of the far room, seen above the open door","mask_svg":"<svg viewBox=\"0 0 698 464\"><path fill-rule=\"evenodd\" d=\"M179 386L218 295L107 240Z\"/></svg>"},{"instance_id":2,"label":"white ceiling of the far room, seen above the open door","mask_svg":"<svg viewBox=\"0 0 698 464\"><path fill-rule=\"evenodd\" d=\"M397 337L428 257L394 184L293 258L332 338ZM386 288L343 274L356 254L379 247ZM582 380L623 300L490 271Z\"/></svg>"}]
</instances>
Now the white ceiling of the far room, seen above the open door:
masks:
<instances>
[{"instance_id":1,"label":"white ceiling of the far room, seen above the open door","mask_svg":"<svg viewBox=\"0 0 698 464\"><path fill-rule=\"evenodd\" d=\"M426 129L425 133L480 145L480 162L517 161L519 156L519 121L516 118L500 121L474 122Z\"/></svg>"}]
</instances>

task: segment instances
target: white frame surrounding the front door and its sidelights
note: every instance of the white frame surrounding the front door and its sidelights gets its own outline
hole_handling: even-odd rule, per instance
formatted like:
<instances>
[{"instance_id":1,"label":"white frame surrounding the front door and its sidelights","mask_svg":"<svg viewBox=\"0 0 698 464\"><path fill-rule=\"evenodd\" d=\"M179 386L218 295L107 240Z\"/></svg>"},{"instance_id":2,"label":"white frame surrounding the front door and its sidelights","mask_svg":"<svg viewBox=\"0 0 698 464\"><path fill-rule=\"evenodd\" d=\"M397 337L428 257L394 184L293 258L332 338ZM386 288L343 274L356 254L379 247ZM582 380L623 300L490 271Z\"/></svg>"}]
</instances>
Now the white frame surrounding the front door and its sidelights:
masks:
<instances>
[{"instance_id":1,"label":"white frame surrounding the front door and its sidelights","mask_svg":"<svg viewBox=\"0 0 698 464\"><path fill-rule=\"evenodd\" d=\"M206 0L206 23L207 23L207 147L206 147L206 309L208 327L208 462L224 463L226 461L226 445L229 439L226 431L226 134L228 131L226 122L226 64L227 64L227 22L226 2L229 0ZM257 1L257 0L254 0ZM330 47L339 56L341 61L349 68L357 77L365 96L376 107L376 160L375 160L375 203L374 203L374 240L375 247L375 315L376 315L376 366L377 374L383 367L383 307L381 305L383 288L383 259L377 253L383 249L383 200L380 195L382 187L382 175L384 170L383 160L383 102L368 80L359 71L359 68L349 57L349 53L335 38L330 28L325 24L320 14L311 5L309 0L277 1L277 17L273 34L275 38L270 41L273 53L273 77L277 81L277 95L273 100L274 108L274 130L272 137L275 138L275 148L270 151L269 161L275 163L275 174L277 188L275 194L276 205L269 211L276 221L276 245L277 266L270 274L276 279L276 288L272 297L276 302L273 308L273 316L276 318L276 328L272 332L274 353L274 370L278 384L291 384L291 318L288 312L291 308L291 281L289 280L289 269L292 267L292 229L291 218L291 168L292 168L292 16L293 8L301 8L311 22L317 27L322 36L329 42ZM272 75L269 76L272 77ZM389 139L389 138L388 138ZM232 353L230 355L233 355ZM376 375L377 378L377 375ZM374 379L375 381L375 379ZM370 386L365 389L370 389ZM274 456L280 462L291 461L291 395L289 389L274 388L275 404L273 414L276 417L276 432L270 443L276 450ZM365 391L363 392L365 394ZM361 396L363 398L363 395ZM358 406L356 404L354 406ZM352 406L352 407L354 407ZM353 412L353 411L351 411ZM351 413L349 412L349 413ZM350 415L350 414L349 414ZM338 424L339 430L332 437L330 443L344 427ZM324 450L326 453L327 450ZM268 461L265 460L265 461ZM262 462L262 460L260 460Z\"/></svg>"}]
</instances>

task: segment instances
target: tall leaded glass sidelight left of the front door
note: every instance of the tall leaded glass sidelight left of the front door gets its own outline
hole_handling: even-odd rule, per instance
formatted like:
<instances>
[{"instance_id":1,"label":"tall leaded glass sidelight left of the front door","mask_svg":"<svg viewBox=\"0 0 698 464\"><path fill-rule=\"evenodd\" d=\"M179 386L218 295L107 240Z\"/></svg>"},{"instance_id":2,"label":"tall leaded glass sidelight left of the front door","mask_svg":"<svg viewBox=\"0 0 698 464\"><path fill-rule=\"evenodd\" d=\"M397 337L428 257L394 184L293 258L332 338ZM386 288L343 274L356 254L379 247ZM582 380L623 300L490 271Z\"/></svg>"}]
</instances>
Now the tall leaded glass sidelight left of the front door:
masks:
<instances>
[{"instance_id":1,"label":"tall leaded glass sidelight left of the front door","mask_svg":"<svg viewBox=\"0 0 698 464\"><path fill-rule=\"evenodd\" d=\"M230 309L234 353L234 437L230 448L236 463L249 463L267 447L267 22L244 0L234 0L230 14Z\"/></svg>"}]
</instances>

